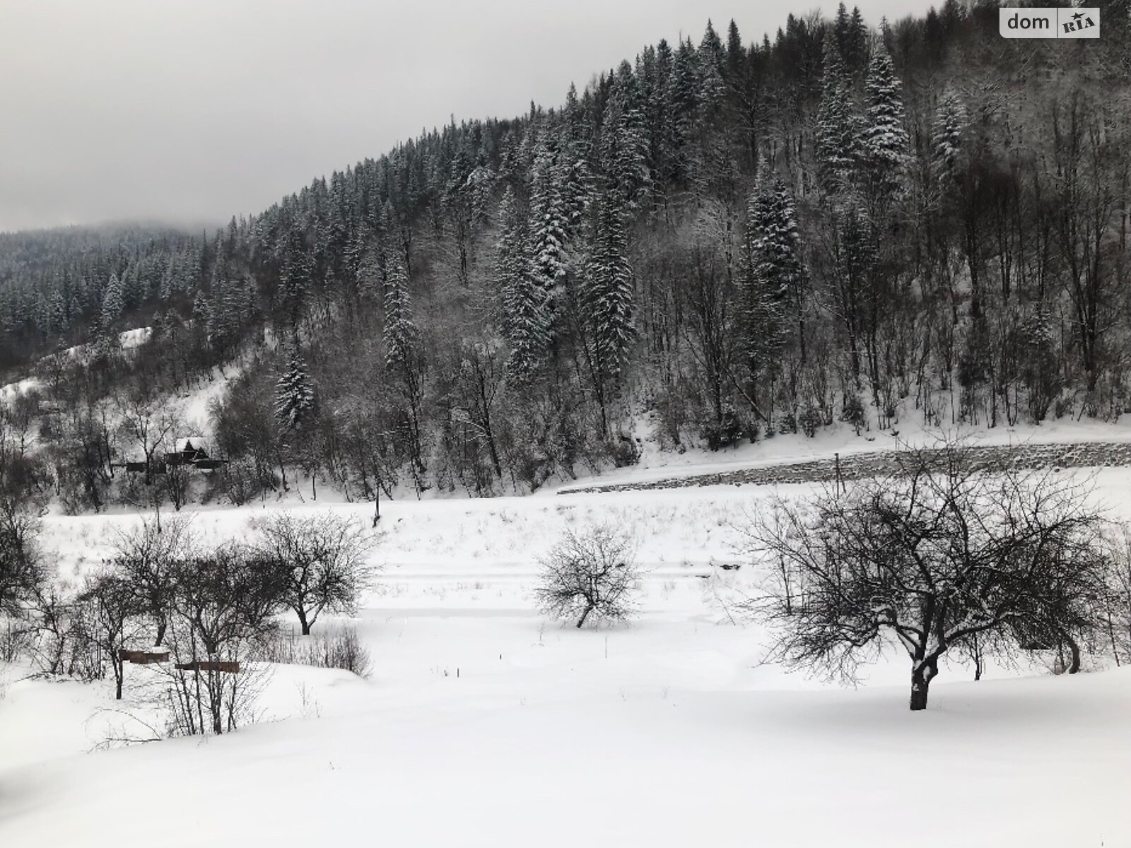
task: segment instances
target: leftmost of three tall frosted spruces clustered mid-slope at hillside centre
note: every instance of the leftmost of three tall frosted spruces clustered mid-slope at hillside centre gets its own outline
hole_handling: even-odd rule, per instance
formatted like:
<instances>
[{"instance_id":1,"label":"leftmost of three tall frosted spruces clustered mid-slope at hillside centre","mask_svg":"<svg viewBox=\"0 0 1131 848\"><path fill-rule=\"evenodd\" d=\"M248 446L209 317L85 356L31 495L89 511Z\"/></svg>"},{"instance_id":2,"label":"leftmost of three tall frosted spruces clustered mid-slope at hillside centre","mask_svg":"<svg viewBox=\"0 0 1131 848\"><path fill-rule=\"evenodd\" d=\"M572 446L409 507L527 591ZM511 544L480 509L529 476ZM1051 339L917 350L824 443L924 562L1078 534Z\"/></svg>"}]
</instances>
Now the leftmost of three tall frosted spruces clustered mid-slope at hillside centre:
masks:
<instances>
[{"instance_id":1,"label":"leftmost of three tall frosted spruces clustered mid-slope at hillside centre","mask_svg":"<svg viewBox=\"0 0 1131 848\"><path fill-rule=\"evenodd\" d=\"M495 280L499 286L503 338L510 348L507 373L521 383L541 366L550 346L546 291L530 275L524 220L508 188L499 205Z\"/></svg>"}]
</instances>

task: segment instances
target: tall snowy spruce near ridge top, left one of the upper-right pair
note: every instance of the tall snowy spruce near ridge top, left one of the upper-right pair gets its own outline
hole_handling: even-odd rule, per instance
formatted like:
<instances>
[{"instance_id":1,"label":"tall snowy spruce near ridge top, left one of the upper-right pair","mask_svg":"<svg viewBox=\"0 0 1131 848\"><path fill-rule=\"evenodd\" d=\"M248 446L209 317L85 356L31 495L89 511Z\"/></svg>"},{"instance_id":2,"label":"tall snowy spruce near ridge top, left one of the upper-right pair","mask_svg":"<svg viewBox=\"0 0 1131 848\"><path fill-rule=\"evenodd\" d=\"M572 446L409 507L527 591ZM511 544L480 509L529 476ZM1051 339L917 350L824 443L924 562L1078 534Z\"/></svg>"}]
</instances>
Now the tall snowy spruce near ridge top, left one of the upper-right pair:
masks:
<instances>
[{"instance_id":1,"label":"tall snowy spruce near ridge top, left one of the upper-right pair","mask_svg":"<svg viewBox=\"0 0 1131 848\"><path fill-rule=\"evenodd\" d=\"M829 31L824 36L821 101L814 128L821 185L828 192L841 190L852 180L860 159L860 124L840 49Z\"/></svg>"}]
</instances>

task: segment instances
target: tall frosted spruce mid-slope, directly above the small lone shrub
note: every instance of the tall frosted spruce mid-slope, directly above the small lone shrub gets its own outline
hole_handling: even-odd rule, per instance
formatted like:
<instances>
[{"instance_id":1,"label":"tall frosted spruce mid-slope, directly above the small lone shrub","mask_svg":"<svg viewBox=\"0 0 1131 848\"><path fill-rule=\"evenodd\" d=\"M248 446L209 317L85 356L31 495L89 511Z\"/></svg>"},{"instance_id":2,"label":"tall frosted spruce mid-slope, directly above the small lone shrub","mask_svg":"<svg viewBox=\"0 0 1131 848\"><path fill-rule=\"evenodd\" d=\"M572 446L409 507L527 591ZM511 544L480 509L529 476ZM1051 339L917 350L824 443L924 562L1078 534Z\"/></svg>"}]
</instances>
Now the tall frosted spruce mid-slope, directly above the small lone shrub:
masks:
<instances>
[{"instance_id":1,"label":"tall frosted spruce mid-slope, directly above the small lone shrub","mask_svg":"<svg viewBox=\"0 0 1131 848\"><path fill-rule=\"evenodd\" d=\"M634 335L633 278L624 215L614 191L598 201L578 296L589 371L605 432L608 383L620 377Z\"/></svg>"}]
</instances>

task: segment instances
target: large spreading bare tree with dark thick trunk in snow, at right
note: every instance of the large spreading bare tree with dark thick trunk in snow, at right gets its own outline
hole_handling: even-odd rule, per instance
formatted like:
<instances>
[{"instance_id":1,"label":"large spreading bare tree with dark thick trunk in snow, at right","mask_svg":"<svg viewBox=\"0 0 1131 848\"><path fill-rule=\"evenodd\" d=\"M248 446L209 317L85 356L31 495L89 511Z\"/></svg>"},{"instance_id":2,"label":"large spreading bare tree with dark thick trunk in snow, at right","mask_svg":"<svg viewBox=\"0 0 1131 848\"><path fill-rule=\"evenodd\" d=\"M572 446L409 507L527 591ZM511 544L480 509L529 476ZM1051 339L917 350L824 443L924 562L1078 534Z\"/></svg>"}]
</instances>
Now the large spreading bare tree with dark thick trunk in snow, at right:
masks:
<instances>
[{"instance_id":1,"label":"large spreading bare tree with dark thick trunk in snow, at right","mask_svg":"<svg viewBox=\"0 0 1131 848\"><path fill-rule=\"evenodd\" d=\"M951 649L1077 644L1098 625L1106 556L1087 494L1051 471L976 470L959 444L906 451L887 477L777 501L751 523L776 576L752 612L779 628L775 658L831 675L852 677L893 638L912 660L910 708L925 709Z\"/></svg>"}]
</instances>

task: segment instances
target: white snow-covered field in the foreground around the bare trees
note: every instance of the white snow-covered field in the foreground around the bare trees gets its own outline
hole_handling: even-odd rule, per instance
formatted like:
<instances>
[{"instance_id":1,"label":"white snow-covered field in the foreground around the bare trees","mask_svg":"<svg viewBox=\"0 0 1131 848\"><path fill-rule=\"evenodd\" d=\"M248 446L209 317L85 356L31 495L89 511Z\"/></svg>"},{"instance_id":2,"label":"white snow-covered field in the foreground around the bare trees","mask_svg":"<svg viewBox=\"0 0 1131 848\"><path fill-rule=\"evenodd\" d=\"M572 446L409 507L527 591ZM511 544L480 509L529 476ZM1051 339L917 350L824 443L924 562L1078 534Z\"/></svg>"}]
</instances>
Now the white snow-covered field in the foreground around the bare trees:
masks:
<instances>
[{"instance_id":1,"label":"white snow-covered field in the foreground around the bare trees","mask_svg":"<svg viewBox=\"0 0 1131 848\"><path fill-rule=\"evenodd\" d=\"M1097 494L1122 509L1129 483L1099 471ZM1131 669L975 683L950 664L912 713L895 654L857 689L761 664L765 634L719 599L753 579L732 523L769 494L382 504L381 588L356 622L372 676L276 667L265 721L230 736L87 753L126 720L109 689L8 668L0 842L1131 846ZM244 534L264 510L193 523ZM61 576L135 520L48 518ZM537 555L594 520L639 540L627 628L532 611Z\"/></svg>"}]
</instances>

